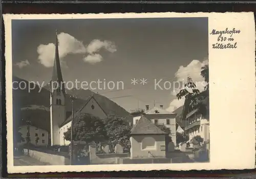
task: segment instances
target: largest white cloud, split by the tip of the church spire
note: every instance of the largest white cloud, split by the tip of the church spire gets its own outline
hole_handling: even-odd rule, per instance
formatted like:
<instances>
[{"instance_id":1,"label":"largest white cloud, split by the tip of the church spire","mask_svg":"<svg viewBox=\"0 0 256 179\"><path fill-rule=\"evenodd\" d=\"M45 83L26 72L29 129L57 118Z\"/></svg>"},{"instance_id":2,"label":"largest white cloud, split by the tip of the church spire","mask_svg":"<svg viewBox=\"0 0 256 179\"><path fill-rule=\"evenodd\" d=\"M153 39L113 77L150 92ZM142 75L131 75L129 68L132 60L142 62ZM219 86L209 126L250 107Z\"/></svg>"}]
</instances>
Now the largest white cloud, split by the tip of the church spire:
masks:
<instances>
[{"instance_id":1,"label":"largest white cloud, split by the tip of the church spire","mask_svg":"<svg viewBox=\"0 0 256 179\"><path fill-rule=\"evenodd\" d=\"M58 50L59 58L62 61L63 57L68 54L83 54L86 53L86 47L84 47L82 41L77 40L75 37L66 34L58 34ZM40 44L37 47L39 62L46 67L52 67L55 58L55 44ZM64 63L63 63L64 64Z\"/></svg>"}]
</instances>

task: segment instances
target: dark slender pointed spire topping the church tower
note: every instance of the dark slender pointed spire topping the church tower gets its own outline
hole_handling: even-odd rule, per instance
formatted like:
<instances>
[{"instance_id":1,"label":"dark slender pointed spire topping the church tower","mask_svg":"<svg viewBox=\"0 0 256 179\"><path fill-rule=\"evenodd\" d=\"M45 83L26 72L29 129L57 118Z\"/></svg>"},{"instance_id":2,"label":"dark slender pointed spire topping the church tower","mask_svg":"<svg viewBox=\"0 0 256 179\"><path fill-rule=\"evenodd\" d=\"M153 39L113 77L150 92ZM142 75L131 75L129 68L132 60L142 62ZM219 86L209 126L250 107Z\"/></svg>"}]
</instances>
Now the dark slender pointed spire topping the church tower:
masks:
<instances>
[{"instance_id":1,"label":"dark slender pointed spire topping the church tower","mask_svg":"<svg viewBox=\"0 0 256 179\"><path fill-rule=\"evenodd\" d=\"M52 86L52 89L53 89L52 93L54 93L57 83L58 83L59 87L61 87L61 91L65 95L65 85L63 83L62 73L61 73L61 68L60 68L58 36L57 36L57 30L56 30L55 58L54 58L53 74L52 74L52 85L53 85Z\"/></svg>"}]
</instances>

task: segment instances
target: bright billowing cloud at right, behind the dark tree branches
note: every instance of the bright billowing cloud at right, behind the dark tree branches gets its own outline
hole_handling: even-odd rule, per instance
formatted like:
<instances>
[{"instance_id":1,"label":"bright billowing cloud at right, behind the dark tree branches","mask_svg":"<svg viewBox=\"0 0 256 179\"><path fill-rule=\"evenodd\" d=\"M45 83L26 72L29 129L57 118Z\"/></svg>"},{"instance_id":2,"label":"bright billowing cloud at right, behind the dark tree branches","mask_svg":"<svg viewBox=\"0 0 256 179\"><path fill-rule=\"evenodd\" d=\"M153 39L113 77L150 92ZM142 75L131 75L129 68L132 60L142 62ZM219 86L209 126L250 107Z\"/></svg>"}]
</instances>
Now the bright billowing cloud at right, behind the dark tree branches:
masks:
<instances>
[{"instance_id":1,"label":"bright billowing cloud at right, behind the dark tree branches","mask_svg":"<svg viewBox=\"0 0 256 179\"><path fill-rule=\"evenodd\" d=\"M204 82L204 78L201 76L201 68L207 63L208 60L204 60L203 62L200 62L199 60L192 60L187 66L180 66L178 71L175 73L176 81L186 83L187 77L191 77L193 82L197 85L199 91L203 91L206 83ZM166 110L174 111L184 104L184 98L180 100L176 98L176 95L179 93L181 88L177 88L174 92L172 92L175 99L170 102L169 107L166 108Z\"/></svg>"}]
</instances>

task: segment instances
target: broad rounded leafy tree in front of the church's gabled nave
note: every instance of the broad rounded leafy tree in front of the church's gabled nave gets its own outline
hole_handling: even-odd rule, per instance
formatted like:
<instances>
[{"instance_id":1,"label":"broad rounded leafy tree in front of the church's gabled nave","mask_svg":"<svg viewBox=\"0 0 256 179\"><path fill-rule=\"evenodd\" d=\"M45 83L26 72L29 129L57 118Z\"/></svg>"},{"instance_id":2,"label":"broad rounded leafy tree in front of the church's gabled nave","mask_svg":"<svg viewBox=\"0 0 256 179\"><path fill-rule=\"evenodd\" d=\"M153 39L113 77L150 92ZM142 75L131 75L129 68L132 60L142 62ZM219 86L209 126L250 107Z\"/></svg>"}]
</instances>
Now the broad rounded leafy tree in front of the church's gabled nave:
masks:
<instances>
[{"instance_id":1,"label":"broad rounded leafy tree in front of the church's gabled nave","mask_svg":"<svg viewBox=\"0 0 256 179\"><path fill-rule=\"evenodd\" d=\"M64 139L70 141L71 128L64 133ZM80 114L74 121L73 140L99 143L106 139L106 130L103 120L90 114Z\"/></svg>"}]
</instances>

